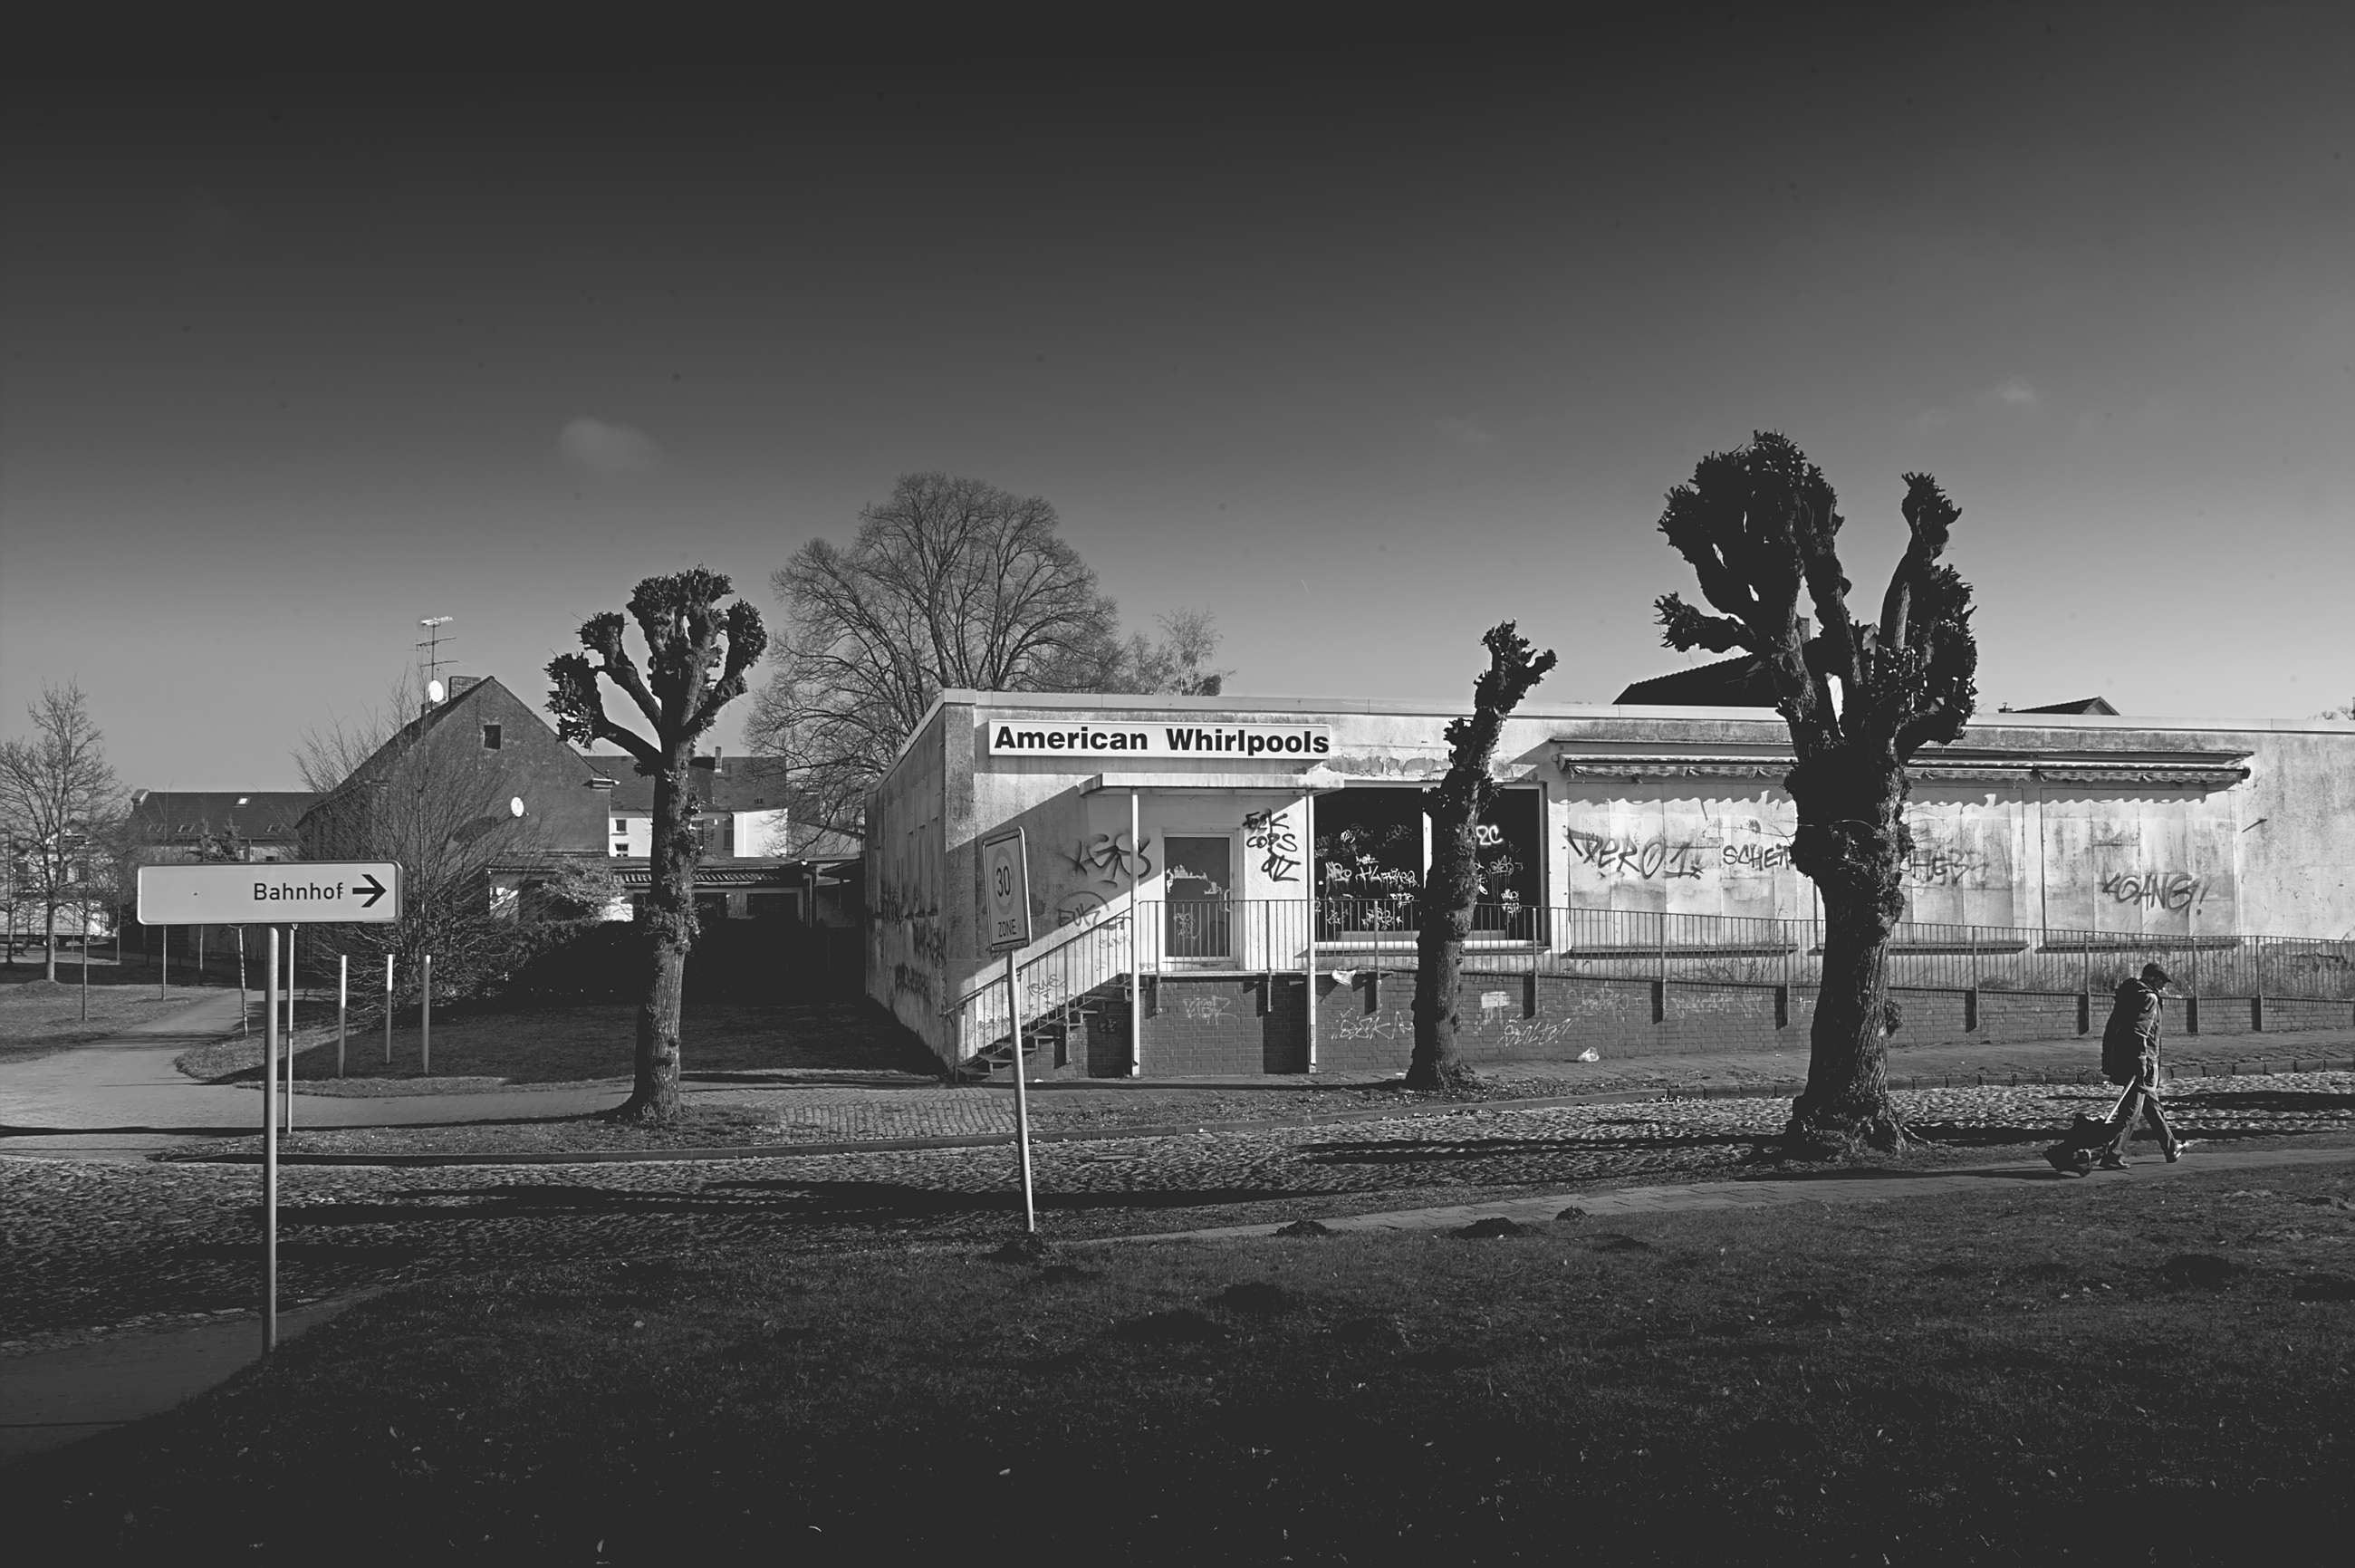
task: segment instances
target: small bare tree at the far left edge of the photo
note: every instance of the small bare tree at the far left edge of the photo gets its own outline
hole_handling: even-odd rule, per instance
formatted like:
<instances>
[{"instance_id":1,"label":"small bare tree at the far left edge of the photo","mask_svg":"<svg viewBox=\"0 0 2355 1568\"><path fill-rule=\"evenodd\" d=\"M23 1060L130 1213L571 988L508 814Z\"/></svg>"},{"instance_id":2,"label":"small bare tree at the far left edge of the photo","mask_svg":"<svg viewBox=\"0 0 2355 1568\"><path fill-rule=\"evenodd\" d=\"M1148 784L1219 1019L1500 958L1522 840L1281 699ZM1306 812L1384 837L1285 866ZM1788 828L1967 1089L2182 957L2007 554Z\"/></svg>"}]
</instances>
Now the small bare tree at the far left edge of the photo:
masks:
<instances>
[{"instance_id":1,"label":"small bare tree at the far left edge of the photo","mask_svg":"<svg viewBox=\"0 0 2355 1568\"><path fill-rule=\"evenodd\" d=\"M33 735L0 742L0 829L12 862L9 890L42 911L47 977L57 979L57 913L80 913L87 963L89 906L113 897L104 871L118 859L111 848L122 789L78 683L42 685L26 713Z\"/></svg>"}]
</instances>

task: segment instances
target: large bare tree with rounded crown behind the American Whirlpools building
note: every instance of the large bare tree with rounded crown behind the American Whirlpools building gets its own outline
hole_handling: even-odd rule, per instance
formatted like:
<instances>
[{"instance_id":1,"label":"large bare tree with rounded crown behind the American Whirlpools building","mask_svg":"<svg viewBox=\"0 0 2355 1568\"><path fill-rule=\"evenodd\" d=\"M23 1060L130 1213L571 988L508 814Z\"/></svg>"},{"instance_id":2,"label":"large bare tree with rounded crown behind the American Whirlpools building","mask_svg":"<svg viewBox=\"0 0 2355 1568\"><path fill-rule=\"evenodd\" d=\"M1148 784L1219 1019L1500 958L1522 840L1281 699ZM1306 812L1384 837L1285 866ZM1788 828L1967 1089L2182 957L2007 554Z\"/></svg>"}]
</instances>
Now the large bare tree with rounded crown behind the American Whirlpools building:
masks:
<instances>
[{"instance_id":1,"label":"large bare tree with rounded crown behind the American Whirlpools building","mask_svg":"<svg viewBox=\"0 0 2355 1568\"><path fill-rule=\"evenodd\" d=\"M1116 605L1055 530L1039 497L909 473L848 549L812 539L770 577L784 624L747 737L787 760L810 826L860 831L867 791L947 687L1218 690L1208 614L1123 645Z\"/></svg>"}]
</instances>

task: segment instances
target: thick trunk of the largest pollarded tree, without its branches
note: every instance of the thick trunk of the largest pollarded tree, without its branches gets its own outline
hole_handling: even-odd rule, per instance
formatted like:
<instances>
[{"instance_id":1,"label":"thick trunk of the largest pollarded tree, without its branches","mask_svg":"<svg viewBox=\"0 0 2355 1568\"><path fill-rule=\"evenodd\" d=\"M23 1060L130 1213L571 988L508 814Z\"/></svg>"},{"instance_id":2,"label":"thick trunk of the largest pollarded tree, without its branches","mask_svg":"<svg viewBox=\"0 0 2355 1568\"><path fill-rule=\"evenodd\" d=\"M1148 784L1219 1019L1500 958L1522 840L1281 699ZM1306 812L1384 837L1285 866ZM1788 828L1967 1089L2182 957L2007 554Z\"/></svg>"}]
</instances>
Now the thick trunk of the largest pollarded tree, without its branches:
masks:
<instances>
[{"instance_id":1,"label":"thick trunk of the largest pollarded tree, without its branches","mask_svg":"<svg viewBox=\"0 0 2355 1568\"><path fill-rule=\"evenodd\" d=\"M1905 916L1905 770L1896 756L1835 751L1792 770L1792 864L1823 895L1823 982L1806 1090L1783 1137L1795 1154L1893 1151L1912 1142L1889 1102L1889 935Z\"/></svg>"}]
</instances>

